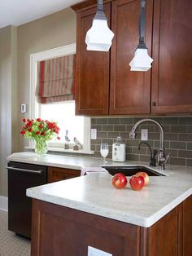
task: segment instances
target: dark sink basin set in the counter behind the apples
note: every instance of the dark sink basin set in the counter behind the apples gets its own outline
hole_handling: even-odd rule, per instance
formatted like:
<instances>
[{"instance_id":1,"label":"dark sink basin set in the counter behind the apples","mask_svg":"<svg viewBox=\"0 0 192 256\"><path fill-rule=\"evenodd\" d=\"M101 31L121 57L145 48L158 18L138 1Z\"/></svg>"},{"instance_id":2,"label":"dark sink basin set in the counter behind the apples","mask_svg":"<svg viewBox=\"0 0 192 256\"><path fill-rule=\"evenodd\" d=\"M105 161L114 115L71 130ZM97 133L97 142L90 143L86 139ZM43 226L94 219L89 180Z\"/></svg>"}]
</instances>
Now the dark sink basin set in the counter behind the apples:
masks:
<instances>
[{"instance_id":1,"label":"dark sink basin set in the counter behind the apples","mask_svg":"<svg viewBox=\"0 0 192 256\"><path fill-rule=\"evenodd\" d=\"M144 171L149 176L165 176L164 174L159 174L155 170L151 170L144 166L103 166L103 168L105 168L111 175L122 173L125 176L132 176L139 171Z\"/></svg>"}]
</instances>

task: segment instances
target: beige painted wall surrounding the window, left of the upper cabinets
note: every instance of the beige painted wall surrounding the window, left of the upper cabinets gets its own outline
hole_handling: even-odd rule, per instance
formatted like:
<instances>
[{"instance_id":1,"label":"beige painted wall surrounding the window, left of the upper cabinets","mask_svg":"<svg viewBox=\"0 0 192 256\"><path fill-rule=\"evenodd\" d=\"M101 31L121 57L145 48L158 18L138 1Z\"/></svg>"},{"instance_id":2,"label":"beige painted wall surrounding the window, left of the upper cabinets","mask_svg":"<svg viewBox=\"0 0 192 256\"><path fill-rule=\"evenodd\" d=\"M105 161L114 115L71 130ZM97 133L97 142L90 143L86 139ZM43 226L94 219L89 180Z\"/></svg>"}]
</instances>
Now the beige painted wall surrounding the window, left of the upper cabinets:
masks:
<instances>
[{"instance_id":1,"label":"beige painted wall surrounding the window, left of the upper cabinets","mask_svg":"<svg viewBox=\"0 0 192 256\"><path fill-rule=\"evenodd\" d=\"M24 150L20 104L29 97L30 54L76 42L76 14L68 8L15 28L0 29L0 196L7 196L7 156Z\"/></svg>"}]
</instances>

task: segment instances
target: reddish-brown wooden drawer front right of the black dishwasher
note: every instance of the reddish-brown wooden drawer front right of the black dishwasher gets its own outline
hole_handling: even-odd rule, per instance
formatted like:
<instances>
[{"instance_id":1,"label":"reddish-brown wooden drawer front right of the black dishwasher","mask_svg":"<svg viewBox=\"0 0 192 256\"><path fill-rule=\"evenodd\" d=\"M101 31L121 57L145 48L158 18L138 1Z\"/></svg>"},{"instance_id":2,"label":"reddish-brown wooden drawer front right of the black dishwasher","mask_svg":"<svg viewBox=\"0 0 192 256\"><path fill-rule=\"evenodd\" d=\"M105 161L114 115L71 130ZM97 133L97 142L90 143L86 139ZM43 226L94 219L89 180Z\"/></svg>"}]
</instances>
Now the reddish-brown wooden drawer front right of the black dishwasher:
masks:
<instances>
[{"instance_id":1,"label":"reddish-brown wooden drawer front right of the black dishwasher","mask_svg":"<svg viewBox=\"0 0 192 256\"><path fill-rule=\"evenodd\" d=\"M80 176L80 174L80 170L48 167L48 183L56 182L63 179L72 179Z\"/></svg>"}]
</instances>

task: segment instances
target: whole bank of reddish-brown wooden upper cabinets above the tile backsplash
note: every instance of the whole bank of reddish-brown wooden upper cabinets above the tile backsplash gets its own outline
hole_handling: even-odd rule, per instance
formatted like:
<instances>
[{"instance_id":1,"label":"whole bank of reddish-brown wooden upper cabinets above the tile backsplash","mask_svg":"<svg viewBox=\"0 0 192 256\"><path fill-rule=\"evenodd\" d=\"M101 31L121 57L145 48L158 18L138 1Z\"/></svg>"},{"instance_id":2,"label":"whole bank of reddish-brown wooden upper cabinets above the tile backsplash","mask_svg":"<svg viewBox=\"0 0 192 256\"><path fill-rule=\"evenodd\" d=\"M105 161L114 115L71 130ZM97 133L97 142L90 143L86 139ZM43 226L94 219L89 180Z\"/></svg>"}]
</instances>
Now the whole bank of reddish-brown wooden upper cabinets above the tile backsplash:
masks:
<instances>
[{"instance_id":1,"label":"whole bank of reddish-brown wooden upper cabinets above the tile backsplash","mask_svg":"<svg viewBox=\"0 0 192 256\"><path fill-rule=\"evenodd\" d=\"M191 1L146 2L146 46L154 59L146 73L129 67L138 42L140 0L105 4L115 33L109 52L86 51L85 33L96 11L89 5L95 2L72 7L77 11L76 114L191 113Z\"/></svg>"}]
</instances>

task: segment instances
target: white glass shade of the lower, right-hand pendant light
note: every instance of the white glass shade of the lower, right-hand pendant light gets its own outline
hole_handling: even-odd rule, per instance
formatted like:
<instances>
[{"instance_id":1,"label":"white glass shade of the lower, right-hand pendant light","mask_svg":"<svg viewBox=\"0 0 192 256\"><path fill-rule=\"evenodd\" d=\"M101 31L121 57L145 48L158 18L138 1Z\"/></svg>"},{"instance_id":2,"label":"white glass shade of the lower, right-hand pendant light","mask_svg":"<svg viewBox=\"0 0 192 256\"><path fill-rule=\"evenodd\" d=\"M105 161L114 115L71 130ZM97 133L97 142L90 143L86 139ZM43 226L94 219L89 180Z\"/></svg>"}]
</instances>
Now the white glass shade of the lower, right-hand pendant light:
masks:
<instances>
[{"instance_id":1,"label":"white glass shade of the lower, right-hand pendant light","mask_svg":"<svg viewBox=\"0 0 192 256\"><path fill-rule=\"evenodd\" d=\"M147 49L137 48L133 60L129 63L131 71L147 71L151 68L153 59L148 55Z\"/></svg>"}]
</instances>

